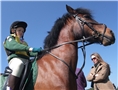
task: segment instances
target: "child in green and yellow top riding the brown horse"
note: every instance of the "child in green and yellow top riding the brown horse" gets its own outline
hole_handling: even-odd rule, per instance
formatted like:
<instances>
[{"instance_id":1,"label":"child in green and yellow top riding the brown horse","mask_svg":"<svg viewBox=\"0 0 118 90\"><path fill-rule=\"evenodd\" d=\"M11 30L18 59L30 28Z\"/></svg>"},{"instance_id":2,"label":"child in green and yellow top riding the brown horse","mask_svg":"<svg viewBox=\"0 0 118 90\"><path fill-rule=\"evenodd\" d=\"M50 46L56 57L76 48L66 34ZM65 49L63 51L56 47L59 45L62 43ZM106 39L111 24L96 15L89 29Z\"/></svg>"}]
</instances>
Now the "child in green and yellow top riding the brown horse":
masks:
<instances>
[{"instance_id":1,"label":"child in green and yellow top riding the brown horse","mask_svg":"<svg viewBox=\"0 0 118 90\"><path fill-rule=\"evenodd\" d=\"M29 60L30 56L36 56L42 48L32 48L24 41L24 33L27 23L24 21L15 21L11 24L10 35L4 42L4 48L8 55L8 63L12 73L9 76L8 88L10 90L18 90L20 77L24 68L24 64Z\"/></svg>"}]
</instances>

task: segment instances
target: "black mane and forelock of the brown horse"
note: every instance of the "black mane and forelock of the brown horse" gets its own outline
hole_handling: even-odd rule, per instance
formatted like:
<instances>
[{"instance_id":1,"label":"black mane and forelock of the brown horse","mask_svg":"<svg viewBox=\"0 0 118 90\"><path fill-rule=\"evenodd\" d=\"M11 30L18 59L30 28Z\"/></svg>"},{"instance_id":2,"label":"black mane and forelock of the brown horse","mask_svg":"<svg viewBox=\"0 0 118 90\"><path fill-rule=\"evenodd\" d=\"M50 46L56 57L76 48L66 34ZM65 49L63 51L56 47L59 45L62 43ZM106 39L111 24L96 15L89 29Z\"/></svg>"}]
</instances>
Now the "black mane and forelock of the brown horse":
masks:
<instances>
[{"instance_id":1,"label":"black mane and forelock of the brown horse","mask_svg":"<svg viewBox=\"0 0 118 90\"><path fill-rule=\"evenodd\" d=\"M90 18L92 18L91 12L88 9L77 8L76 12L78 14L87 14ZM44 40L44 48L50 48L56 45L58 41L59 33L61 29L64 27L64 25L66 25L68 19L72 19L72 15L66 13L61 18L58 18L55 21L54 26L52 27L51 31L49 32L49 34L46 36Z\"/></svg>"}]
</instances>

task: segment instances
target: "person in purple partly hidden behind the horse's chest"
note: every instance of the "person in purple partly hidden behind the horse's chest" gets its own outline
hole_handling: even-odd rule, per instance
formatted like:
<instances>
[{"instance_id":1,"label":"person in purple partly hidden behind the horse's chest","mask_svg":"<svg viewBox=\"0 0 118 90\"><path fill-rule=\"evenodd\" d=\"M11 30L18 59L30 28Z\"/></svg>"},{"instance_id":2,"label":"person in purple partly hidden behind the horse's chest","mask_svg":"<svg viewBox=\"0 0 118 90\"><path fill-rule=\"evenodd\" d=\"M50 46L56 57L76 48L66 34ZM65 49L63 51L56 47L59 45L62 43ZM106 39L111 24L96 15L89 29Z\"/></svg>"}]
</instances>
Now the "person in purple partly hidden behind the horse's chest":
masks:
<instances>
[{"instance_id":1,"label":"person in purple partly hidden behind the horse's chest","mask_svg":"<svg viewBox=\"0 0 118 90\"><path fill-rule=\"evenodd\" d=\"M76 68L76 75L80 71L80 68ZM85 87L87 86L86 78L84 76L84 72L81 71L80 74L78 75L78 78L76 80L77 82L77 90L85 90Z\"/></svg>"}]
</instances>

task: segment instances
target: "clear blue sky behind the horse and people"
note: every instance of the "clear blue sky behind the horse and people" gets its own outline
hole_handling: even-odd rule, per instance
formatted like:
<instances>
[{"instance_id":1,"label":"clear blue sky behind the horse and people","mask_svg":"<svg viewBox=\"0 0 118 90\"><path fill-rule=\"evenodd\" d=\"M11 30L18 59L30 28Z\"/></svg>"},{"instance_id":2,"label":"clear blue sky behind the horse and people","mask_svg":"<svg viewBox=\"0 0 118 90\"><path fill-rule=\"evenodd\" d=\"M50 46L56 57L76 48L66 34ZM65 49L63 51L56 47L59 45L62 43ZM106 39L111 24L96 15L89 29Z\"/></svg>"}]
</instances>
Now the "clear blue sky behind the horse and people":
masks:
<instances>
[{"instance_id":1,"label":"clear blue sky behind the horse and people","mask_svg":"<svg viewBox=\"0 0 118 90\"><path fill-rule=\"evenodd\" d=\"M110 80L118 86L118 57L117 57L117 24L118 7L117 1L2 1L1 2L1 60L0 72L8 65L7 56L3 48L3 41L9 35L9 28L12 22L23 20L28 23L25 33L25 41L31 47L43 47L43 41L50 31L56 19L67 13L66 4L73 7L88 8L92 11L94 19L104 23L113 30L116 36L115 44L111 46L102 46L94 44L86 47L86 64L83 69L85 76L93 65L90 54L98 52L102 58L110 64ZM81 45L81 44L79 44ZM79 59L77 67L83 63L82 52L79 49ZM87 82L87 88L90 83Z\"/></svg>"}]
</instances>

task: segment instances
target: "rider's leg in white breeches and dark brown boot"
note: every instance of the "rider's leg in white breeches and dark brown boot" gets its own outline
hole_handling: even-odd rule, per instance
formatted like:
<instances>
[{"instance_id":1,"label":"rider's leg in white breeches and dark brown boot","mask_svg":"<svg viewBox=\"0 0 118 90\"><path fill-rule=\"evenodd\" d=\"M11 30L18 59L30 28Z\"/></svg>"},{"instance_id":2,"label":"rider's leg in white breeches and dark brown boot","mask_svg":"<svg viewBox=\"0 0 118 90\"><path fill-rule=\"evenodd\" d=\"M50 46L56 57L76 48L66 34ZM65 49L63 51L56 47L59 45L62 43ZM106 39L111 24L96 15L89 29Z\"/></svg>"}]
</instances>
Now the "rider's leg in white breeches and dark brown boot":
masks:
<instances>
[{"instance_id":1,"label":"rider's leg in white breeches and dark brown boot","mask_svg":"<svg viewBox=\"0 0 118 90\"><path fill-rule=\"evenodd\" d=\"M12 69L12 73L9 77L8 86L11 90L18 90L20 85L20 77L26 61L26 59L22 58L13 58L10 60L9 67Z\"/></svg>"}]
</instances>

